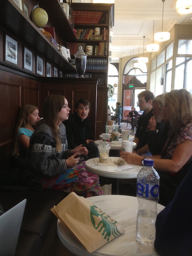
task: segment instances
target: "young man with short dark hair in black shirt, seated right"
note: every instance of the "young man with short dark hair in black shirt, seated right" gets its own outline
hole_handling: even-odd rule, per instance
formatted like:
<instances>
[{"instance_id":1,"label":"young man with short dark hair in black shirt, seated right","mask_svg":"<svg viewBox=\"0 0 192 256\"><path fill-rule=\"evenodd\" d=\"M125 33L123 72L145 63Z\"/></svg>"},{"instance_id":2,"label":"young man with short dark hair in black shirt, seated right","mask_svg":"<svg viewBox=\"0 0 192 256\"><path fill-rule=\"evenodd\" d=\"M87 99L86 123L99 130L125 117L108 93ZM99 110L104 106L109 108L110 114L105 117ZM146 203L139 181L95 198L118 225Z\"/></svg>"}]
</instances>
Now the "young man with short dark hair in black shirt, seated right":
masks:
<instances>
[{"instance_id":1,"label":"young man with short dark hair in black shirt, seated right","mask_svg":"<svg viewBox=\"0 0 192 256\"><path fill-rule=\"evenodd\" d=\"M153 93L145 90L138 94L138 102L140 110L144 111L143 115L138 119L137 131L135 134L134 142L137 143L135 152L137 154L148 154L151 155L147 145L147 134L148 134L148 121L153 116L152 100L154 99Z\"/></svg>"}]
</instances>

